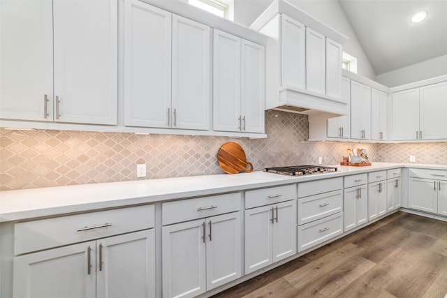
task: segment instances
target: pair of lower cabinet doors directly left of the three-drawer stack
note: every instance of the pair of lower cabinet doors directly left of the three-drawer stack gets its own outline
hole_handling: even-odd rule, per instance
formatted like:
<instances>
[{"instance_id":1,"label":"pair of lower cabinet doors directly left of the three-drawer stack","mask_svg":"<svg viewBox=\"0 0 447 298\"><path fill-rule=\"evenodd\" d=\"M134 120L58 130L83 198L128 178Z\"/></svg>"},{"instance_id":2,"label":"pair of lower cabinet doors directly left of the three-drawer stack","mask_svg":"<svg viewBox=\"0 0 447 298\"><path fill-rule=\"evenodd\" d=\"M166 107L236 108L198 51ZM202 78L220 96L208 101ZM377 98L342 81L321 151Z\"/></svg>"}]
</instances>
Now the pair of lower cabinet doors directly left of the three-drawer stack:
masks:
<instances>
[{"instance_id":1,"label":"pair of lower cabinet doors directly left of the three-drawer stack","mask_svg":"<svg viewBox=\"0 0 447 298\"><path fill-rule=\"evenodd\" d=\"M296 200L245 210L245 274L296 253Z\"/></svg>"}]
</instances>

